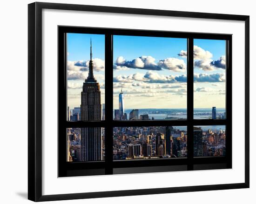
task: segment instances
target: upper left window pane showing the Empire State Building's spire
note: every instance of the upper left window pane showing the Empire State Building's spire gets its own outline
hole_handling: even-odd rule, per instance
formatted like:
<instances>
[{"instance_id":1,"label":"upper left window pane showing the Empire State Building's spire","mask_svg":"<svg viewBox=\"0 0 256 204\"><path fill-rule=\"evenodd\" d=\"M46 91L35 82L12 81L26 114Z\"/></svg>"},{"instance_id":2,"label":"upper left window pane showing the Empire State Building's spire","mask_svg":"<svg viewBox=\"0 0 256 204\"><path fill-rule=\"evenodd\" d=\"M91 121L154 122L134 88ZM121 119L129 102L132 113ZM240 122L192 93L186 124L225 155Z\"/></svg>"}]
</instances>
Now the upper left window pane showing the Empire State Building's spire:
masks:
<instances>
[{"instance_id":1,"label":"upper left window pane showing the Empire State Building's spire","mask_svg":"<svg viewBox=\"0 0 256 204\"><path fill-rule=\"evenodd\" d=\"M67 33L67 120L105 119L105 35Z\"/></svg>"}]
</instances>

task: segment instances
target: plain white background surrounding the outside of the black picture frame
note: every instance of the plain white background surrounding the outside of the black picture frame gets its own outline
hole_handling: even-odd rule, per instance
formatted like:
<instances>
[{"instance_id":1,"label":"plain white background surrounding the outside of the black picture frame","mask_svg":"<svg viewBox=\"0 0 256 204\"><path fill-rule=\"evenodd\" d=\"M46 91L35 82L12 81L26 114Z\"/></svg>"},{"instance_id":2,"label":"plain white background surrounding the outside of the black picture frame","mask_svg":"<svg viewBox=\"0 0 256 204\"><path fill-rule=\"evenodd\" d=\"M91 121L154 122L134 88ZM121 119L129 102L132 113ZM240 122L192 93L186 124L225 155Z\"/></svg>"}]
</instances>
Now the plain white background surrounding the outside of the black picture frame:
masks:
<instances>
[{"instance_id":1,"label":"plain white background surrounding the outside of the black picture frame","mask_svg":"<svg viewBox=\"0 0 256 204\"><path fill-rule=\"evenodd\" d=\"M25 203L29 202L27 196L27 3L31 1L10 1L1 4L1 32L0 32L0 56L1 56L1 165L0 165L0 200L3 203ZM224 2L215 0L207 2L199 1L173 1L167 3L164 0L158 1L57 1L61 3L80 3L102 6L119 6L119 7L141 7L154 9L168 9L180 11L209 12L209 13L230 13L250 15L251 25L251 116L255 113L253 107L253 81L254 67L252 47L256 46L256 41L252 38L255 36L256 14L255 6L249 0L243 0L236 3L234 1ZM200 25L199 25L200 26ZM239 83L239 82L236 82ZM13 126L15 121L16 126ZM250 125L253 128L253 117L250 118ZM251 128L251 129L252 129ZM241 131L241 130L240 130ZM251 131L250 144L254 143ZM251 172L255 164L252 163L255 150L251 148ZM210 175L209 175L210 177ZM226 191L206 191L206 192L189 192L162 195L147 195L134 197L114 197L98 198L86 200L88 203L102 202L143 202L156 203L159 201L170 203L242 203L249 202L254 198L253 191L256 190L254 182L255 177L251 174L251 188L240 190ZM67 188L75 188L67 186ZM84 203L85 200L61 201L61 203ZM55 202L56 203L56 202Z\"/></svg>"}]
</instances>

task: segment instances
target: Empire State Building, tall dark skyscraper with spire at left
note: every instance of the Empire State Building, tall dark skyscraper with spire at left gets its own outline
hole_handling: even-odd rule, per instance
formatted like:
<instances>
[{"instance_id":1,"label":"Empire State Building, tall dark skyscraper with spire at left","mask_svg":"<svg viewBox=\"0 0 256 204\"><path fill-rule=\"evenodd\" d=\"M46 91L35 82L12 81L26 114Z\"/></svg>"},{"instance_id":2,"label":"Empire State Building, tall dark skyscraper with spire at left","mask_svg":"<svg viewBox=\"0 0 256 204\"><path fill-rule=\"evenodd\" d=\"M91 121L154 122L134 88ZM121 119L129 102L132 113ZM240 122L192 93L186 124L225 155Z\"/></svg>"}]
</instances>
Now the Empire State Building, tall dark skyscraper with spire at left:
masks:
<instances>
[{"instance_id":1,"label":"Empire State Building, tall dark skyscraper with spire at left","mask_svg":"<svg viewBox=\"0 0 256 204\"><path fill-rule=\"evenodd\" d=\"M92 41L90 47L89 73L83 83L83 90L81 92L81 120L101 120L101 91L99 83L94 79ZM81 160L102 160L101 127L81 128Z\"/></svg>"}]
</instances>

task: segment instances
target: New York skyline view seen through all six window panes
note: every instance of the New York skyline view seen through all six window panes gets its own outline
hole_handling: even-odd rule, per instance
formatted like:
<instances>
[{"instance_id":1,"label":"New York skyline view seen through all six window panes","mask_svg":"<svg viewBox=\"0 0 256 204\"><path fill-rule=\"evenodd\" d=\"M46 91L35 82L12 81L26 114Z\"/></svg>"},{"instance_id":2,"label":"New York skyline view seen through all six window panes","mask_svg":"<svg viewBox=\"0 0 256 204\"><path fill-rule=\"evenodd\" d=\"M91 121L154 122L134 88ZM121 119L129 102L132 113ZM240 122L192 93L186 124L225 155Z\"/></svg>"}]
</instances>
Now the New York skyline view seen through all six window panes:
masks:
<instances>
[{"instance_id":1,"label":"New York skyline view seen through all six window panes","mask_svg":"<svg viewBox=\"0 0 256 204\"><path fill-rule=\"evenodd\" d=\"M225 40L194 40L194 118L224 119ZM105 120L105 36L67 33L67 121ZM187 39L113 36L113 119L187 118ZM207 130L205 130L208 128ZM187 126L114 127L113 159L187 157ZM194 156L224 156L225 128L194 127ZM67 161L105 159L102 127L67 128Z\"/></svg>"}]
</instances>

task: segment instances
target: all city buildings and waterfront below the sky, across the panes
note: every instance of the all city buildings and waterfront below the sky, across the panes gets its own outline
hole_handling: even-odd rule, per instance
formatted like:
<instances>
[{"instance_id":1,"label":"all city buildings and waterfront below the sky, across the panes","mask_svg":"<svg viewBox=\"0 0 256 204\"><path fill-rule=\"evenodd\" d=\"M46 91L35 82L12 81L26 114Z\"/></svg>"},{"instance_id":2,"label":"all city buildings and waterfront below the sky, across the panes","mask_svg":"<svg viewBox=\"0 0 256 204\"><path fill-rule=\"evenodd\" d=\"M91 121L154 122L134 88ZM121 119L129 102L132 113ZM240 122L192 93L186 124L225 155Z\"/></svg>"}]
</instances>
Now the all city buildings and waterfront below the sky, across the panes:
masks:
<instances>
[{"instance_id":1,"label":"all city buildings and waterfront below the sky, across the panes","mask_svg":"<svg viewBox=\"0 0 256 204\"><path fill-rule=\"evenodd\" d=\"M92 46L90 47L88 77L83 82L81 106L72 110L67 107L68 121L99 121L105 119L105 104L101 105L100 84L94 78ZM159 109L154 112L139 109L125 111L123 91L119 93L119 108L114 110L114 120L154 120L157 114L166 112ZM153 114L155 114L153 116ZM175 112L175 117L185 119L184 114ZM199 114L199 113L198 113ZM194 114L195 115L195 114ZM226 118L226 113L216 112L212 107L201 115L210 119ZM174 116L165 118L173 119ZM115 127L113 128L113 159L149 159L149 158L182 158L187 157L186 126L148 126L148 127ZM194 127L194 156L225 156L225 127L220 125ZM67 161L99 161L105 159L105 131L102 127L67 128Z\"/></svg>"}]
</instances>

